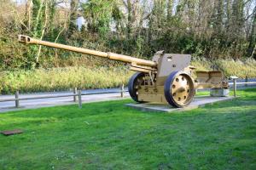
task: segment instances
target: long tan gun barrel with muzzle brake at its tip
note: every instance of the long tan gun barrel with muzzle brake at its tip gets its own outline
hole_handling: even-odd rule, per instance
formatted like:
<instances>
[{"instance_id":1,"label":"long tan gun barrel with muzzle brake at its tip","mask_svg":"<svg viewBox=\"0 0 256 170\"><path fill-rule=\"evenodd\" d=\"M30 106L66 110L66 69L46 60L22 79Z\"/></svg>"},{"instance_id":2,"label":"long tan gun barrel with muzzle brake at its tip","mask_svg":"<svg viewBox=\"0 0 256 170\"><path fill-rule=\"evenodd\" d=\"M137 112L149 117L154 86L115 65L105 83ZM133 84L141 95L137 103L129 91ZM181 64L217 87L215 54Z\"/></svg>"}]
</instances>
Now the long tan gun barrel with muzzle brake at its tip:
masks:
<instances>
[{"instance_id":1,"label":"long tan gun barrel with muzzle brake at its tip","mask_svg":"<svg viewBox=\"0 0 256 170\"><path fill-rule=\"evenodd\" d=\"M26 44L38 44L38 45L44 45L52 48L60 48L60 49L66 49L68 51L73 51L77 53L82 53L82 54L91 54L103 58L108 58L108 59L113 59L113 60L118 60L118 61L123 61L125 63L136 63L137 65L143 65L143 66L148 66L155 68L157 64L154 61L146 60L146 59L137 59L128 55L122 55L122 54L114 54L114 53L105 53L101 51L96 51L96 50L91 50L91 49L86 49L86 48L77 48L73 46L68 46L68 45L63 45L60 43L55 43L55 42L45 42L42 40L38 40L32 37L28 36L23 36L19 35L18 36L19 42L23 42Z\"/></svg>"}]
</instances>

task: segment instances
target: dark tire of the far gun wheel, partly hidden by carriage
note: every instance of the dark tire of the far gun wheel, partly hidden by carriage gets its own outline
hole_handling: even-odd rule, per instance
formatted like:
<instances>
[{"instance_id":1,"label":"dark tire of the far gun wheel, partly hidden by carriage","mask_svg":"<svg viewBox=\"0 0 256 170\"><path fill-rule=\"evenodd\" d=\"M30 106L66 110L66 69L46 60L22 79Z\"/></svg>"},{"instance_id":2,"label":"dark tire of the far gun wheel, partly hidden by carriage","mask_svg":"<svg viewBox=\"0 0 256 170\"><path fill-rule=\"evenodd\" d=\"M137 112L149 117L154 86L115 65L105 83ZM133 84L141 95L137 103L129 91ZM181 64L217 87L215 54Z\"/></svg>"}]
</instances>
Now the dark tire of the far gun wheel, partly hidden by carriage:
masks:
<instances>
[{"instance_id":1,"label":"dark tire of the far gun wheel, partly hidden by carriage","mask_svg":"<svg viewBox=\"0 0 256 170\"><path fill-rule=\"evenodd\" d=\"M143 72L137 72L134 75L132 75L132 77L130 78L130 80L128 82L128 91L131 96L131 99L133 99L134 101L136 101L138 103L143 103L143 101L139 101L137 99L137 90L135 90L135 88L134 88L134 83L137 81L137 78L144 77L144 76L145 76L145 74Z\"/></svg>"}]
</instances>

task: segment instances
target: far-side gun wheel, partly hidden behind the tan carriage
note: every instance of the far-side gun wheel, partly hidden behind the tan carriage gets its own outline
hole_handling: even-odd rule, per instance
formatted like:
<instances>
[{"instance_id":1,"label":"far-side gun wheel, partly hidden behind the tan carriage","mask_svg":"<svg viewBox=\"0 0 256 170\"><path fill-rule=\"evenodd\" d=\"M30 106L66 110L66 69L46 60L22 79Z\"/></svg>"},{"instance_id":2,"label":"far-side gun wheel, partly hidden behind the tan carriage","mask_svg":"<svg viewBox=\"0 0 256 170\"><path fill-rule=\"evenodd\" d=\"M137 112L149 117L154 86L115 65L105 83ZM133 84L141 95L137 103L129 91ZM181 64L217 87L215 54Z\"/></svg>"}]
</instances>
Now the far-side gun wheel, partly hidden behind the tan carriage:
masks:
<instances>
[{"instance_id":1,"label":"far-side gun wheel, partly hidden behind the tan carriage","mask_svg":"<svg viewBox=\"0 0 256 170\"><path fill-rule=\"evenodd\" d=\"M144 82L143 77L145 77L143 72L137 72L130 78L128 82L128 91L131 96L131 99L139 103L142 103L143 101L138 100L137 90Z\"/></svg>"}]
</instances>

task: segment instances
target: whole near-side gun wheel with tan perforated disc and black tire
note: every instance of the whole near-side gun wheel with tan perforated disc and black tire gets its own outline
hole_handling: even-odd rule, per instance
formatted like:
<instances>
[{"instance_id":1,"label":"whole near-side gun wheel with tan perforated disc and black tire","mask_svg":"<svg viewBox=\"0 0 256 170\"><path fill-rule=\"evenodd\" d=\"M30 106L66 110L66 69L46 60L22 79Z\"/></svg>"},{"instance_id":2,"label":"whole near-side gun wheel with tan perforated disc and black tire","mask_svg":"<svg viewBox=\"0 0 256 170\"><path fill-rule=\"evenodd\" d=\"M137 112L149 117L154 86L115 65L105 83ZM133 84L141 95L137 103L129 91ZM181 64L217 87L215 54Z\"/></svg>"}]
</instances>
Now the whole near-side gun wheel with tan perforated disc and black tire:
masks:
<instances>
[{"instance_id":1,"label":"whole near-side gun wheel with tan perforated disc and black tire","mask_svg":"<svg viewBox=\"0 0 256 170\"><path fill-rule=\"evenodd\" d=\"M195 95L193 79L185 72L174 71L165 82L167 102L174 107L189 105Z\"/></svg>"}]
</instances>

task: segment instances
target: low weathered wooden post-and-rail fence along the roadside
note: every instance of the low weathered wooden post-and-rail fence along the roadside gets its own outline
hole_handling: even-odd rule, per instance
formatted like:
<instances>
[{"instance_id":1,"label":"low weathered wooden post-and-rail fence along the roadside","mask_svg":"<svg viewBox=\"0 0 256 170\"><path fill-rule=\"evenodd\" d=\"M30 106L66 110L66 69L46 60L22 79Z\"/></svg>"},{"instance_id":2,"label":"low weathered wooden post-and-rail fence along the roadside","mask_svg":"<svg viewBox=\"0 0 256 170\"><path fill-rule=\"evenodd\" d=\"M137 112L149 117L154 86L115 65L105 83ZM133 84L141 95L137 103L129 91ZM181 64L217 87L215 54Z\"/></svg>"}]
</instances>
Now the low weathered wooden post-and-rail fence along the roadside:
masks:
<instances>
[{"instance_id":1,"label":"low weathered wooden post-and-rail fence along the roadside","mask_svg":"<svg viewBox=\"0 0 256 170\"><path fill-rule=\"evenodd\" d=\"M230 85L233 85L234 96L236 97L236 85L238 84L256 84L256 82L236 82L236 78L233 79L233 82L229 82ZM100 92L100 93L86 93L82 94L81 90L73 88L73 94L63 94L63 95L47 95L47 96L38 96L32 98L20 98L19 91L15 92L15 99L0 99L0 102L15 101L15 107L20 107L20 100L29 100L29 99L48 99L48 98L63 98L63 97L73 97L73 101L79 101L79 108L82 108L82 96L83 95L92 95L92 94L120 94L120 98L124 98L124 93L128 92L125 90L124 84L121 85L120 90L116 92Z\"/></svg>"}]
</instances>

